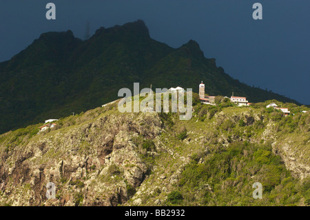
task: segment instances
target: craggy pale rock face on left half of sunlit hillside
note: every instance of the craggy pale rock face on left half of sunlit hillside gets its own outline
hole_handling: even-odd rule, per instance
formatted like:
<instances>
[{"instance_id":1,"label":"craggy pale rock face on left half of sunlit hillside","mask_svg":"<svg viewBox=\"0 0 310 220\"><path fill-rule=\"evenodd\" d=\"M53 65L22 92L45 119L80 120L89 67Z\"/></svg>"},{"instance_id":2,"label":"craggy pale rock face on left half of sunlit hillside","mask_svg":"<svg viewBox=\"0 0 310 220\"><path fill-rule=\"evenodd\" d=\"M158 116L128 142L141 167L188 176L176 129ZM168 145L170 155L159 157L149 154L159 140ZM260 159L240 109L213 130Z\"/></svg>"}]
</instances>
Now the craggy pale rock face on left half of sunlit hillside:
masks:
<instances>
[{"instance_id":1,"label":"craggy pale rock face on left half of sunlit hillside","mask_svg":"<svg viewBox=\"0 0 310 220\"><path fill-rule=\"evenodd\" d=\"M143 125L147 126L143 126ZM141 185L147 166L133 139L161 132L158 114L110 114L1 153L0 201L12 206L116 206L128 199L127 186ZM56 184L47 199L46 184Z\"/></svg>"}]
</instances>

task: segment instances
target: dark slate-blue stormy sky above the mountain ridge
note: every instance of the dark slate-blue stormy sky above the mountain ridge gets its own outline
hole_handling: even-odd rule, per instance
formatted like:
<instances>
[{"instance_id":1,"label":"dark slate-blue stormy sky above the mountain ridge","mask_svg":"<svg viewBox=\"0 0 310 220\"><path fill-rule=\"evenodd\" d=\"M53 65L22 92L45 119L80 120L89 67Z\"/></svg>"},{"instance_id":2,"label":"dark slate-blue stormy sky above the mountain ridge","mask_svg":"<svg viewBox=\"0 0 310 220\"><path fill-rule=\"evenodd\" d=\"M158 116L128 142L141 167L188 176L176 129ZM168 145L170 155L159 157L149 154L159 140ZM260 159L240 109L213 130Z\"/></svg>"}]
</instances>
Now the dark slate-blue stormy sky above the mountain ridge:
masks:
<instances>
[{"instance_id":1,"label":"dark slate-blue stormy sky above the mountain ridge","mask_svg":"<svg viewBox=\"0 0 310 220\"><path fill-rule=\"evenodd\" d=\"M54 21L45 19L49 2ZM260 21L252 18L256 2ZM83 39L87 21L92 35L143 19L153 39L173 48L194 39L231 77L310 104L309 9L309 0L0 0L0 61L43 32L70 29Z\"/></svg>"}]
</instances>

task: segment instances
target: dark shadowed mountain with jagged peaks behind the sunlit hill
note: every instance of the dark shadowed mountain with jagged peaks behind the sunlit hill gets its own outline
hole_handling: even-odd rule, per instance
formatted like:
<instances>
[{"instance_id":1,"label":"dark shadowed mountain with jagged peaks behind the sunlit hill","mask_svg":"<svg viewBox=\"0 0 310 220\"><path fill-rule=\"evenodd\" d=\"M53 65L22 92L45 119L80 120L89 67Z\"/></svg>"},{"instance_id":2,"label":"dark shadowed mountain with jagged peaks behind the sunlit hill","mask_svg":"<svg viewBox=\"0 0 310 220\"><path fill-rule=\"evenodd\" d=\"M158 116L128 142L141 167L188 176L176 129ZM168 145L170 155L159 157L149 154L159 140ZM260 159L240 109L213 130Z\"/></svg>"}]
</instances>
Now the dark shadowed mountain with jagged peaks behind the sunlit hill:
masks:
<instances>
[{"instance_id":1,"label":"dark shadowed mountain with jagged peaks behind the sunlit hill","mask_svg":"<svg viewBox=\"0 0 310 220\"><path fill-rule=\"evenodd\" d=\"M0 133L68 116L118 99L120 88L182 86L251 102L292 99L232 79L205 58L196 41L171 48L149 37L141 20L99 28L82 41L72 32L47 32L10 61L0 63Z\"/></svg>"}]
</instances>

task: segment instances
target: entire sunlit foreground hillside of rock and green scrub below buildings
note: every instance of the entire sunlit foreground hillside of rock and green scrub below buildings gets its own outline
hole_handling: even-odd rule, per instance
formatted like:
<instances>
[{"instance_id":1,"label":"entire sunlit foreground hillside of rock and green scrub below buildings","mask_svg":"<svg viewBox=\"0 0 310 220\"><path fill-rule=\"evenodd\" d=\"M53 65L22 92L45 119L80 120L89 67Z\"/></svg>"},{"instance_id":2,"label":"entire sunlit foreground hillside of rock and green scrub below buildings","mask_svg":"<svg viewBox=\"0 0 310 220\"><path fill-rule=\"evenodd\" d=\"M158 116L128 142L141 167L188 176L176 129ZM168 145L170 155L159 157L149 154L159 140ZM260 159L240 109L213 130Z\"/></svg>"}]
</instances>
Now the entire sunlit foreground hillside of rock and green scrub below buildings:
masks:
<instances>
[{"instance_id":1,"label":"entire sunlit foreground hillside of rock and green scrub below buildings","mask_svg":"<svg viewBox=\"0 0 310 220\"><path fill-rule=\"evenodd\" d=\"M281 205L282 190L285 202L304 205L305 192L285 190L310 177L307 120L302 115L298 132L286 132L264 108L198 104L191 120L180 121L178 114L121 114L112 103L45 132L35 125L2 134L0 204L167 206L178 190L188 206ZM268 199L250 198L254 181L268 187ZM46 197L49 182L55 199ZM236 201L222 198L234 191Z\"/></svg>"}]
</instances>

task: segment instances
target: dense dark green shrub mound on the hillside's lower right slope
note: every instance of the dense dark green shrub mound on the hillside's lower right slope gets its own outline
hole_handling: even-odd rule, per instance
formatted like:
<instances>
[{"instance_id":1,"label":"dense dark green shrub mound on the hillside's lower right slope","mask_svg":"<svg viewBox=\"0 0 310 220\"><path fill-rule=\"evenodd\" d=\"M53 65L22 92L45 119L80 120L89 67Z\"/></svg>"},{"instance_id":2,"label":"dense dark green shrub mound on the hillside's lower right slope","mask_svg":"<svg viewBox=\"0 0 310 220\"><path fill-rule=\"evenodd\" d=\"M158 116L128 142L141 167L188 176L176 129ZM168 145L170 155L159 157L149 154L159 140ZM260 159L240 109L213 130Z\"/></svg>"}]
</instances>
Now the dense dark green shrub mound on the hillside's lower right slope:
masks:
<instances>
[{"instance_id":1,"label":"dense dark green shrub mound on the hillside's lower right slope","mask_svg":"<svg viewBox=\"0 0 310 220\"><path fill-rule=\"evenodd\" d=\"M187 199L199 191L201 205L254 203L251 186L258 180L269 203L257 200L257 204L294 205L302 196L298 181L291 177L280 157L272 154L270 146L232 143L226 150L218 150L204 159L204 163L192 160L179 182Z\"/></svg>"}]
</instances>

